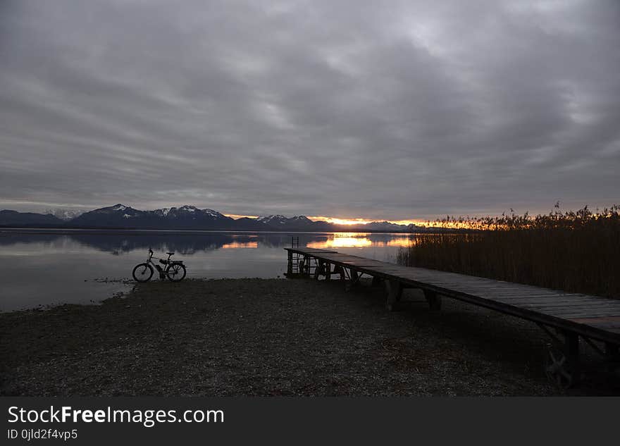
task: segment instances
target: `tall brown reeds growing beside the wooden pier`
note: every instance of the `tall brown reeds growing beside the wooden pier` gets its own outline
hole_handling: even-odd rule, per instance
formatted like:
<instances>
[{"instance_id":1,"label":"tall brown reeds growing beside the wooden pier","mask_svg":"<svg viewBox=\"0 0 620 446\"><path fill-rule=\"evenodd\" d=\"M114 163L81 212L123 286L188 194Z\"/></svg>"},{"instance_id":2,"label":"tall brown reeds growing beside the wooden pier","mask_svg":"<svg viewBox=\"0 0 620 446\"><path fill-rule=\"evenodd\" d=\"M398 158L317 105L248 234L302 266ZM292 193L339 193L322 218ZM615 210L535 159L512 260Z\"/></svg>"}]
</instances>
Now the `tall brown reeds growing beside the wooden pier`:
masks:
<instances>
[{"instance_id":1,"label":"tall brown reeds growing beside the wooden pier","mask_svg":"<svg viewBox=\"0 0 620 446\"><path fill-rule=\"evenodd\" d=\"M419 237L399 264L620 298L620 206L546 215L447 217L467 233Z\"/></svg>"}]
</instances>

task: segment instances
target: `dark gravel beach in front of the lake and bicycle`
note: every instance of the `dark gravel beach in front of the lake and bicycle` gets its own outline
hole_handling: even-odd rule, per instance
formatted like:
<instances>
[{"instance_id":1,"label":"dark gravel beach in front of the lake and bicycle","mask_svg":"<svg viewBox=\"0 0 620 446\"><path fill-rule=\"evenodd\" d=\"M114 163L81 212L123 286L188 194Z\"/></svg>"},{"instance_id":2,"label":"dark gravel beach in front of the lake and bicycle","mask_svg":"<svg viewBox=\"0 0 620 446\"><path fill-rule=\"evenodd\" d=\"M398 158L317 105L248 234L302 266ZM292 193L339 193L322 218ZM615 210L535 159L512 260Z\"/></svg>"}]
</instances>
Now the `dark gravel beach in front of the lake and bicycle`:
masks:
<instances>
[{"instance_id":1,"label":"dark gravel beach in front of the lake and bicycle","mask_svg":"<svg viewBox=\"0 0 620 446\"><path fill-rule=\"evenodd\" d=\"M0 314L1 395L566 395L536 326L416 290L154 282L100 305ZM620 395L597 374L568 395Z\"/></svg>"}]
</instances>

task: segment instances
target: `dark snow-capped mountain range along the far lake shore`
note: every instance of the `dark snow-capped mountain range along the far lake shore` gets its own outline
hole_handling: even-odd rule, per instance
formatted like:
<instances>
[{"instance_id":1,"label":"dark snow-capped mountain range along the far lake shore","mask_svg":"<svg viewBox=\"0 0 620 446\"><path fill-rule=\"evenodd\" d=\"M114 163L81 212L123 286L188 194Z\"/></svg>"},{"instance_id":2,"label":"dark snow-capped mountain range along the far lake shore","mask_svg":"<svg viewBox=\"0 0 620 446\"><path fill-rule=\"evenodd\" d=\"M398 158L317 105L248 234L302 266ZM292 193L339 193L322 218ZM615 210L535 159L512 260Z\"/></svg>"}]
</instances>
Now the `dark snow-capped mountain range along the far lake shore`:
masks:
<instances>
[{"instance_id":1,"label":"dark snow-capped mountain range along the far lake shore","mask_svg":"<svg viewBox=\"0 0 620 446\"><path fill-rule=\"evenodd\" d=\"M52 213L0 211L0 226L39 228L117 228L117 229L177 229L177 230L252 230L300 232L423 232L418 225L397 225L375 221L360 225L337 225L327 221L312 221L306 216L282 215L259 218L230 218L213 209L180 206L140 211L116 204L85 213L73 214L56 210ZM59 218L61 217L61 218Z\"/></svg>"}]
</instances>

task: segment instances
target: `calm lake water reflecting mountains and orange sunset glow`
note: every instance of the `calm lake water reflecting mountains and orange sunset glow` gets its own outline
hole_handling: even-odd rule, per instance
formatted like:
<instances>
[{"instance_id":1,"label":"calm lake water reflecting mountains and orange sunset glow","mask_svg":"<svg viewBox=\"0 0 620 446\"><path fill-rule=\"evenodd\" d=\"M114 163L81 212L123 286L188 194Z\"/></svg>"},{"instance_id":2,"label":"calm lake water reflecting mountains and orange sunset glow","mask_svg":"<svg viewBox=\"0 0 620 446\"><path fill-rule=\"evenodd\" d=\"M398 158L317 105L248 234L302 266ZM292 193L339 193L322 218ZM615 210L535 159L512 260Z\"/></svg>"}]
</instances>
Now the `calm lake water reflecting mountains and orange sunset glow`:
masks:
<instances>
[{"instance_id":1,"label":"calm lake water reflecting mountains and orange sunset glow","mask_svg":"<svg viewBox=\"0 0 620 446\"><path fill-rule=\"evenodd\" d=\"M296 233L299 245L395 261L399 247L415 235ZM59 303L99 302L132 285L136 264L175 252L189 278L277 278L286 271L291 234L175 231L0 232L0 261L8 274L0 292L0 311ZM154 275L154 278L156 274ZM151 279L154 280L154 279Z\"/></svg>"}]
</instances>

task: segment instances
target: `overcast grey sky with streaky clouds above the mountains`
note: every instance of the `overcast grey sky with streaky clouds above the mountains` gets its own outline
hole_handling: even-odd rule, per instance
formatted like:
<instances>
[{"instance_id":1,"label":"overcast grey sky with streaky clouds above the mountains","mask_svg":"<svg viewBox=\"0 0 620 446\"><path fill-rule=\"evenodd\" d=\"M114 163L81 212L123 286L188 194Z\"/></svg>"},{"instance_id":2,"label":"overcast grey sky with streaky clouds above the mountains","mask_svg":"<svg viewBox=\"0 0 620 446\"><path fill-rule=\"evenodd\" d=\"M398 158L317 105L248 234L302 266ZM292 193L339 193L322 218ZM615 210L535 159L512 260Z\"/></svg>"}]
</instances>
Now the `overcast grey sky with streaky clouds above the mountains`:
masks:
<instances>
[{"instance_id":1,"label":"overcast grey sky with streaky clouds above the mountains","mask_svg":"<svg viewBox=\"0 0 620 446\"><path fill-rule=\"evenodd\" d=\"M0 0L0 209L620 203L620 1Z\"/></svg>"}]
</instances>

